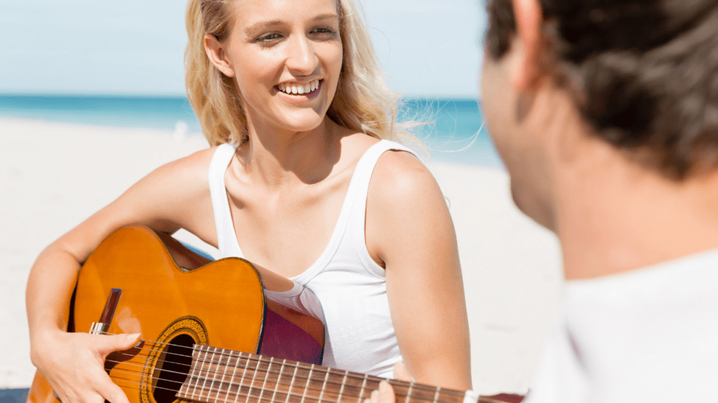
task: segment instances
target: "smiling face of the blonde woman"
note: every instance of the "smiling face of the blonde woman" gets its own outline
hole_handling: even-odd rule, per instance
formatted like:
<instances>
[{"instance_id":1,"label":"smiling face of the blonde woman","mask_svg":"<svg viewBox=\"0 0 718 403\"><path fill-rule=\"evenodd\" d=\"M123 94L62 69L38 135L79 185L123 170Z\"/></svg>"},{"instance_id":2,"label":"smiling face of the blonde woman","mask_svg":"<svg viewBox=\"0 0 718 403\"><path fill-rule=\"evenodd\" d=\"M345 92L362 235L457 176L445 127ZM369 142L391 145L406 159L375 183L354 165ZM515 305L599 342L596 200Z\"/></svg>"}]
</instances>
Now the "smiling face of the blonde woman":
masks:
<instances>
[{"instance_id":1,"label":"smiling face of the blonde woman","mask_svg":"<svg viewBox=\"0 0 718 403\"><path fill-rule=\"evenodd\" d=\"M234 77L248 122L289 131L316 128L342 70L337 2L238 0L233 8L230 37L218 45L225 64L215 65Z\"/></svg>"}]
</instances>

